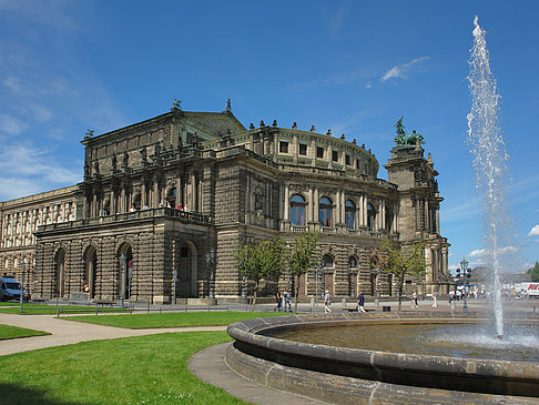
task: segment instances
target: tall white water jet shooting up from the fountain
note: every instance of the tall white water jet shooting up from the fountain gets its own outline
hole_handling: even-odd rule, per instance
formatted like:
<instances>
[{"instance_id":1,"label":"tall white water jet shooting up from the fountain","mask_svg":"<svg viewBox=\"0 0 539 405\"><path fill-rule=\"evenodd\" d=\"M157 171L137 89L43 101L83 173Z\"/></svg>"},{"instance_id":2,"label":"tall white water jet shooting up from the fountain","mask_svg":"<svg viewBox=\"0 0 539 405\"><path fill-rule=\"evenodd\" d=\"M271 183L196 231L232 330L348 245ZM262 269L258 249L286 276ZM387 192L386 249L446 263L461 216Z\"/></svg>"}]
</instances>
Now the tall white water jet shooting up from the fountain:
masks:
<instances>
[{"instance_id":1,"label":"tall white water jet shooting up from the fountain","mask_svg":"<svg viewBox=\"0 0 539 405\"><path fill-rule=\"evenodd\" d=\"M468 140L474 154L474 168L478 188L482 191L486 230L484 241L492 269L491 286L494 291L494 313L498 337L504 337L504 317L501 308L500 267L501 257L507 247L500 249L501 234L507 214L505 209L505 180L507 179L507 153L498 126L499 94L497 83L490 71L489 53L485 31L474 19L474 47L469 60L468 75L471 93L471 111L468 119ZM506 233L507 234L507 233Z\"/></svg>"}]
</instances>

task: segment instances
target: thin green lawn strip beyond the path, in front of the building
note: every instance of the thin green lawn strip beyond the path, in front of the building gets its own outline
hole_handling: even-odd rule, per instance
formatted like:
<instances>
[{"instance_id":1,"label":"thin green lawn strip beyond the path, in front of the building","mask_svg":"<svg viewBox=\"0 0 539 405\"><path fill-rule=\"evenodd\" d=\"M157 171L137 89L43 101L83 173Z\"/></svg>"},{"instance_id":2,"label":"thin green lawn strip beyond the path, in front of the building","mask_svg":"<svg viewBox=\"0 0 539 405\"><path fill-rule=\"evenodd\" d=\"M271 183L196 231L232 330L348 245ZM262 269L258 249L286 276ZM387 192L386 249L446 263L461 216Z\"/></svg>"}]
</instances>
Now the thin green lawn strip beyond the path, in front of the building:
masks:
<instances>
[{"instance_id":1,"label":"thin green lawn strip beyond the path, in front of the building","mask_svg":"<svg viewBox=\"0 0 539 405\"><path fill-rule=\"evenodd\" d=\"M133 315L81 315L64 320L140 330L148 327L218 326L253 317L278 316L273 312L177 312Z\"/></svg>"}]
</instances>

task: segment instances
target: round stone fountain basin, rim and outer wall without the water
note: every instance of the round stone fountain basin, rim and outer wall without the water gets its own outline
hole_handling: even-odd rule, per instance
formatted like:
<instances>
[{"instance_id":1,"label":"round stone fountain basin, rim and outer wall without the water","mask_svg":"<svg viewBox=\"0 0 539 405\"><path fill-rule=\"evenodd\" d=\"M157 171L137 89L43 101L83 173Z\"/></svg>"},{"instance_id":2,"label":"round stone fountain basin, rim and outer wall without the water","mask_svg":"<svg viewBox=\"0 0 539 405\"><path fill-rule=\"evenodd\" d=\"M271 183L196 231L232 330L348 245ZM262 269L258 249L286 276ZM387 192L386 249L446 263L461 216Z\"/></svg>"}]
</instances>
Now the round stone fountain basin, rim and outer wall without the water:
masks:
<instances>
[{"instance_id":1,"label":"round stone fountain basin, rim and outer wall without the water","mask_svg":"<svg viewBox=\"0 0 539 405\"><path fill-rule=\"evenodd\" d=\"M405 317L405 318L403 318ZM407 317L407 318L406 318ZM234 323L228 334L235 340L227 364L251 379L279 389L298 392L337 403L360 398L403 403L420 398L431 403L459 402L537 403L539 363L434 355L404 354L307 344L272 337L277 332L314 326L387 323L477 323L468 317L418 317L396 313L291 315ZM397 395L397 393L400 393Z\"/></svg>"}]
</instances>

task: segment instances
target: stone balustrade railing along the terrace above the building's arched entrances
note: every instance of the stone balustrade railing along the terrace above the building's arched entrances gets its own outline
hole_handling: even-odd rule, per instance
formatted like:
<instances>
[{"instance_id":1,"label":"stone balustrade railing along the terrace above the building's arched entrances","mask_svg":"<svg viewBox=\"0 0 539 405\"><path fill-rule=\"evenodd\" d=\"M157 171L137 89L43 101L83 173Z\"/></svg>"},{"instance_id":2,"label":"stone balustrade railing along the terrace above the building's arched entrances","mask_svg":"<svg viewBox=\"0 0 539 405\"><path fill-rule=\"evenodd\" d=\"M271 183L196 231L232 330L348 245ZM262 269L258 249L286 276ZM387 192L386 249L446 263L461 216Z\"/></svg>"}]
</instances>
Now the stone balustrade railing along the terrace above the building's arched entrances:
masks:
<instances>
[{"instance_id":1,"label":"stone balustrade railing along the terrace above the building's arched entrances","mask_svg":"<svg viewBox=\"0 0 539 405\"><path fill-rule=\"evenodd\" d=\"M157 216L177 217L180 220L185 220L187 222L195 222L195 223L210 222L210 217L207 215L201 214L200 212L181 211L181 210L163 206L159 209L138 210L133 212L124 212L121 214L109 214L109 215L101 215L95 217L78 220L78 221L59 222L53 224L40 225L38 227L38 231L43 232L43 231L79 227L85 225L103 225L103 224L116 223L122 221L135 221L135 220L143 220L143 219L157 217Z\"/></svg>"}]
</instances>

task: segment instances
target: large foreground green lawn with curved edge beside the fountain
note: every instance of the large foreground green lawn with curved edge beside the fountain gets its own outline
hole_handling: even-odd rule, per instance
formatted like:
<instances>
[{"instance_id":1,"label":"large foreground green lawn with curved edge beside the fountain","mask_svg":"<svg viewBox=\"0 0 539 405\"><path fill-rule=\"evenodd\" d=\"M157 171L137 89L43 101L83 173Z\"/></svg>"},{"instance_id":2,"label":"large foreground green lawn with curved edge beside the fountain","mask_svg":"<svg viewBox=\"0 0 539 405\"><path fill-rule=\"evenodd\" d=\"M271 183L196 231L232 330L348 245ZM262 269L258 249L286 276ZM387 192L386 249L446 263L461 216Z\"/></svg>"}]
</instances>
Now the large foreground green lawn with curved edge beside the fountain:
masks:
<instances>
[{"instance_id":1,"label":"large foreground green lawn with curved edge beside the fountain","mask_svg":"<svg viewBox=\"0 0 539 405\"><path fill-rule=\"evenodd\" d=\"M245 404L187 368L225 332L84 342L0 357L2 404Z\"/></svg>"}]
</instances>

